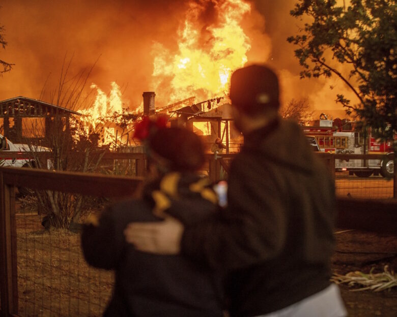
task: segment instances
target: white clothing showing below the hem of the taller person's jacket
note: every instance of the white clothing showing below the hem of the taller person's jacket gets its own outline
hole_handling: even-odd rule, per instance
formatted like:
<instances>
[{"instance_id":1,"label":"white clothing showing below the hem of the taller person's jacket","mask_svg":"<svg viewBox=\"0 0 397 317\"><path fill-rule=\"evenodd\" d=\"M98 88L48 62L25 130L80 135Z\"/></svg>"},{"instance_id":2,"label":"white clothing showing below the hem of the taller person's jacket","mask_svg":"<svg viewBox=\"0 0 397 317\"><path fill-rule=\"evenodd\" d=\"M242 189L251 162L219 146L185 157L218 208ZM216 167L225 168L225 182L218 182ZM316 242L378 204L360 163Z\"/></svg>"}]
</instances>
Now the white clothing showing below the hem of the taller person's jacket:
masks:
<instances>
[{"instance_id":1,"label":"white clothing showing below the hem of the taller person's jacket","mask_svg":"<svg viewBox=\"0 0 397 317\"><path fill-rule=\"evenodd\" d=\"M257 317L345 317L347 311L339 288L331 284L326 289L286 308Z\"/></svg>"}]
</instances>

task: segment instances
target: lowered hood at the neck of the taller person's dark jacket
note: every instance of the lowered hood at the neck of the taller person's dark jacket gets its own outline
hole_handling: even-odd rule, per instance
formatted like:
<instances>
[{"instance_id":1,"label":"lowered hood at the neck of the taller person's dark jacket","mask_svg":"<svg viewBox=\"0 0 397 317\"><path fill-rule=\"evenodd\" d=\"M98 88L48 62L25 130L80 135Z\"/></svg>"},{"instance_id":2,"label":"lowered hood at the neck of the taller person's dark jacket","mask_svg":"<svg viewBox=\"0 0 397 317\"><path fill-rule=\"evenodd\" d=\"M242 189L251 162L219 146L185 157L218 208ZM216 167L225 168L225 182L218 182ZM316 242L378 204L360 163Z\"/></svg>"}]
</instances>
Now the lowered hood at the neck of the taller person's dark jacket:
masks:
<instances>
[{"instance_id":1,"label":"lowered hood at the neck of the taller person's dark jacket","mask_svg":"<svg viewBox=\"0 0 397 317\"><path fill-rule=\"evenodd\" d=\"M277 165L302 172L313 171L314 151L301 127L293 121L277 119L270 126L253 131L246 137L246 148L250 152L259 150L264 158Z\"/></svg>"}]
</instances>

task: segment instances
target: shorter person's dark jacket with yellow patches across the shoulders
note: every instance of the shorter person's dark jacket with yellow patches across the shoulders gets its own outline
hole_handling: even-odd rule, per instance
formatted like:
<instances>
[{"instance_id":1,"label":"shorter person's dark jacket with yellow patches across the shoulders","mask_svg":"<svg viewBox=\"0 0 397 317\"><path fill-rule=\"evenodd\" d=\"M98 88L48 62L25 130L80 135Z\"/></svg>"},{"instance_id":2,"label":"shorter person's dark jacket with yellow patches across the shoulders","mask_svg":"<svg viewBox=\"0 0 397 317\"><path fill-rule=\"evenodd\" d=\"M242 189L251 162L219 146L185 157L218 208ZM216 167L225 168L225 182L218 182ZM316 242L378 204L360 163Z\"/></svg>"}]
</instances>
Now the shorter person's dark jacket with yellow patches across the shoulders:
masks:
<instances>
[{"instance_id":1,"label":"shorter person's dark jacket with yellow patches across the shoulders","mask_svg":"<svg viewBox=\"0 0 397 317\"><path fill-rule=\"evenodd\" d=\"M97 221L83 226L86 261L115 270L114 292L104 316L222 316L220 281L213 271L182 256L136 251L123 235L130 222L161 221L153 209L173 209L186 225L210 216L216 196L208 183L194 175L167 174L146 185L142 199L112 205ZM176 210L173 201L179 199L189 208Z\"/></svg>"}]
</instances>

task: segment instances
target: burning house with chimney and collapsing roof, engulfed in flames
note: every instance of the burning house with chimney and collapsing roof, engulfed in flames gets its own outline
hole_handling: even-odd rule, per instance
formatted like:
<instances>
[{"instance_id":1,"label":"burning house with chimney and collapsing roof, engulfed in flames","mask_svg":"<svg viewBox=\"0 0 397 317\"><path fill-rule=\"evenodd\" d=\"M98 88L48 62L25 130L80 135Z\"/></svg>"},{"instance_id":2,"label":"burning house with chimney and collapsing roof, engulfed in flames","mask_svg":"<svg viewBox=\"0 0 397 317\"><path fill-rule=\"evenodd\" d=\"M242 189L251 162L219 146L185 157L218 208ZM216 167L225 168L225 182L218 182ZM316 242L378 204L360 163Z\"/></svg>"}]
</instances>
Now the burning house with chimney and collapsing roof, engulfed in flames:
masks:
<instances>
[{"instance_id":1,"label":"burning house with chimney and collapsing roof, engulfed in flames","mask_svg":"<svg viewBox=\"0 0 397 317\"><path fill-rule=\"evenodd\" d=\"M91 85L97 90L96 99L89 108L77 108L81 114L78 120L86 135L98 137L98 145L110 145L113 150L139 146L133 139L134 123L142 115L167 114L170 124L187 126L202 135L206 144L219 137L228 152L238 149L241 136L235 132L231 116L222 110L228 106L220 100L229 91L232 72L248 61L251 39L243 24L251 5L242 0L188 2L184 10L184 19L177 23L172 41L153 41L151 74L142 71L143 79L138 83L133 80L133 98L127 97L123 103L116 82L111 83L108 94L96 84ZM145 67L139 65L138 69ZM136 100L136 87L140 84L150 87L150 91L143 92L143 103ZM204 102L197 103L195 99Z\"/></svg>"}]
</instances>

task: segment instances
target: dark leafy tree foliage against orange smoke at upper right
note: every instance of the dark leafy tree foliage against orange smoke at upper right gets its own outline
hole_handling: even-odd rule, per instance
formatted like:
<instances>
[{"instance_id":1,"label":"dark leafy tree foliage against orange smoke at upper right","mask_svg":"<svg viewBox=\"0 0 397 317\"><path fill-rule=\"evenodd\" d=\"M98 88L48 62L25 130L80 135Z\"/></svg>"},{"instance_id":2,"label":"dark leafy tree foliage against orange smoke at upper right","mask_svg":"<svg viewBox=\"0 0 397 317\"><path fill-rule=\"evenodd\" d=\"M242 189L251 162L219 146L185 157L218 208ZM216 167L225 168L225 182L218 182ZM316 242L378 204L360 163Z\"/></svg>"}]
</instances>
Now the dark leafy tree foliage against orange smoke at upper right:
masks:
<instances>
[{"instance_id":1,"label":"dark leafy tree foliage against orange smoke at upper right","mask_svg":"<svg viewBox=\"0 0 397 317\"><path fill-rule=\"evenodd\" d=\"M303 67L301 78L338 76L360 103L352 105L343 94L337 94L336 101L349 114L357 114L378 137L392 139L397 130L396 1L346 4L299 0L290 13L308 22L287 41L298 46L295 56Z\"/></svg>"}]
</instances>

